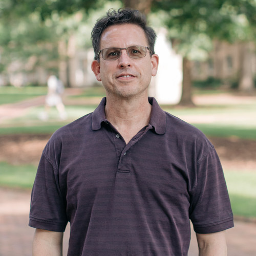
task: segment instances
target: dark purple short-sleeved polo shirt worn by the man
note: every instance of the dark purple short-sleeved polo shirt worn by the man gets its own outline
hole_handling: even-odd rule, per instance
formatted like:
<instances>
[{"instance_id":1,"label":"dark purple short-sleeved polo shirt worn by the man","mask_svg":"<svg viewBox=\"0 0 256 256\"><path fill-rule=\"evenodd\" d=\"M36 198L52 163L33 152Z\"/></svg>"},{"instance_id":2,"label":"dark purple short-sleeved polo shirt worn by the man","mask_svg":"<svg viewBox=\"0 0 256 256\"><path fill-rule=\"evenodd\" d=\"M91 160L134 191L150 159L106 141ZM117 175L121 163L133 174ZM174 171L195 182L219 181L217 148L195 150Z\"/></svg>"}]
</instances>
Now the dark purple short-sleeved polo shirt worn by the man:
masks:
<instances>
[{"instance_id":1,"label":"dark purple short-sleeved polo shirt worn by the man","mask_svg":"<svg viewBox=\"0 0 256 256\"><path fill-rule=\"evenodd\" d=\"M104 114L53 134L38 166L29 225L64 231L69 255L187 255L198 233L233 226L214 146L149 98L150 123L127 145Z\"/></svg>"}]
</instances>

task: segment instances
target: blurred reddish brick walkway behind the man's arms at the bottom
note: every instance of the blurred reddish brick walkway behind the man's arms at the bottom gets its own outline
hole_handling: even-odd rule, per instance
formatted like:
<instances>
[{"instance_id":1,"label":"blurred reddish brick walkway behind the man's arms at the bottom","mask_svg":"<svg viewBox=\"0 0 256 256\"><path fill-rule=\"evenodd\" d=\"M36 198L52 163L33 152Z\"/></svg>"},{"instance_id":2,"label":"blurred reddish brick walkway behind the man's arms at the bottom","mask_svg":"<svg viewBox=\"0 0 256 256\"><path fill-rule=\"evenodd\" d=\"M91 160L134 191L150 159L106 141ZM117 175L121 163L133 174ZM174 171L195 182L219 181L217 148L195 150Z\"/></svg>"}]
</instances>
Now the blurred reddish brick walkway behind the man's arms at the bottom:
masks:
<instances>
[{"instance_id":1,"label":"blurred reddish brick walkway behind the man's arms at the bottom","mask_svg":"<svg viewBox=\"0 0 256 256\"><path fill-rule=\"evenodd\" d=\"M28 226L30 191L0 187L0 256L30 256L34 229ZM64 236L63 255L67 255L68 231ZM236 221L226 231L229 256L256 255L256 223ZM198 255L195 233L188 256Z\"/></svg>"}]
</instances>

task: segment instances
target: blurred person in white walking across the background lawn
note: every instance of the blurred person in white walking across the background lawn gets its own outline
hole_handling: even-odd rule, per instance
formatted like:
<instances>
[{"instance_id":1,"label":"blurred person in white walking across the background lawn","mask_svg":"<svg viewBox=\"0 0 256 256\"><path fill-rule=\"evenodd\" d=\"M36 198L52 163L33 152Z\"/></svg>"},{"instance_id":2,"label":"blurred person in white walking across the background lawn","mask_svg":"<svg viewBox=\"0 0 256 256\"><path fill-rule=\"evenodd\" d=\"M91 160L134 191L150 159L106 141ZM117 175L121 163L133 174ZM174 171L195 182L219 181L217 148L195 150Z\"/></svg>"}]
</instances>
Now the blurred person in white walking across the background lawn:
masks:
<instances>
[{"instance_id":1,"label":"blurred person in white walking across the background lawn","mask_svg":"<svg viewBox=\"0 0 256 256\"><path fill-rule=\"evenodd\" d=\"M52 106L55 106L59 113L61 120L67 119L67 112L65 105L62 102L62 94L64 92L64 86L60 79L55 75L50 75L47 80L48 93L45 102L45 112L41 113L39 118L47 120L49 118L49 112Z\"/></svg>"}]
</instances>

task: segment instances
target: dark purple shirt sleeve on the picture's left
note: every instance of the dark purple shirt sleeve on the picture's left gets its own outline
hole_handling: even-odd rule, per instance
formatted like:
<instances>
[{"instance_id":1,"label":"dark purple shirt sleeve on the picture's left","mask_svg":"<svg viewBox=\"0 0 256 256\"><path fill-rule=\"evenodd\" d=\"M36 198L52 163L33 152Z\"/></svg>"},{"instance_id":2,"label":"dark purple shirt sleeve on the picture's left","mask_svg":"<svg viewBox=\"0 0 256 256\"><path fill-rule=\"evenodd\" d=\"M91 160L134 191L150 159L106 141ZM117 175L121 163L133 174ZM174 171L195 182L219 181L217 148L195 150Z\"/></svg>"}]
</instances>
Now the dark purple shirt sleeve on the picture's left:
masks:
<instances>
[{"instance_id":1,"label":"dark purple shirt sleeve on the picture's left","mask_svg":"<svg viewBox=\"0 0 256 256\"><path fill-rule=\"evenodd\" d=\"M32 189L29 226L63 232L66 225L66 201L60 193L58 173L43 152Z\"/></svg>"}]
</instances>

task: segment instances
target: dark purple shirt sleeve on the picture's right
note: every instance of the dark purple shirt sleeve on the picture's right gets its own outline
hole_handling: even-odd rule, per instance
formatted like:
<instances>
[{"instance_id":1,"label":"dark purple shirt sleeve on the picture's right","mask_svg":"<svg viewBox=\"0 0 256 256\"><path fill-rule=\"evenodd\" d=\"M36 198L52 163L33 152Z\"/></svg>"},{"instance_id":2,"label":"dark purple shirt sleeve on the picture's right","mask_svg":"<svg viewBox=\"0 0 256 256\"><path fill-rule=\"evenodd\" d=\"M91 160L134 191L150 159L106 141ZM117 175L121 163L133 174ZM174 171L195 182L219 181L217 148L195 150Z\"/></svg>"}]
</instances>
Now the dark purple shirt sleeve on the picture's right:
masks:
<instances>
[{"instance_id":1,"label":"dark purple shirt sleeve on the picture's right","mask_svg":"<svg viewBox=\"0 0 256 256\"><path fill-rule=\"evenodd\" d=\"M197 163L197 185L191 195L190 219L197 233L233 227L233 214L219 157L213 146Z\"/></svg>"}]
</instances>

